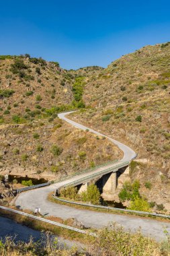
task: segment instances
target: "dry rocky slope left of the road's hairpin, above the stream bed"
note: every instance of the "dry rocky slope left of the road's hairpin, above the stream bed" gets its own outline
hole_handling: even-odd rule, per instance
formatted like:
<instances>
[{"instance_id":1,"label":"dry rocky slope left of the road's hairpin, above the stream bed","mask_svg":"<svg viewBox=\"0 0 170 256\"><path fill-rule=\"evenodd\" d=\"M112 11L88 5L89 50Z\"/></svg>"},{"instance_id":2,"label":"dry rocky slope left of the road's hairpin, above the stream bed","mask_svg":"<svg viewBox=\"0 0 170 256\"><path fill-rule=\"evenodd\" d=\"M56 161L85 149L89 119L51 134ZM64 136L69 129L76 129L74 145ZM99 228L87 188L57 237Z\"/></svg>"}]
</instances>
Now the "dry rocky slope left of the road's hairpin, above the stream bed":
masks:
<instances>
[{"instance_id":1,"label":"dry rocky slope left of the road's hairpin, above the stream bed","mask_svg":"<svg viewBox=\"0 0 170 256\"><path fill-rule=\"evenodd\" d=\"M0 138L0 174L52 180L122 156L107 139L60 119L1 125Z\"/></svg>"}]
</instances>

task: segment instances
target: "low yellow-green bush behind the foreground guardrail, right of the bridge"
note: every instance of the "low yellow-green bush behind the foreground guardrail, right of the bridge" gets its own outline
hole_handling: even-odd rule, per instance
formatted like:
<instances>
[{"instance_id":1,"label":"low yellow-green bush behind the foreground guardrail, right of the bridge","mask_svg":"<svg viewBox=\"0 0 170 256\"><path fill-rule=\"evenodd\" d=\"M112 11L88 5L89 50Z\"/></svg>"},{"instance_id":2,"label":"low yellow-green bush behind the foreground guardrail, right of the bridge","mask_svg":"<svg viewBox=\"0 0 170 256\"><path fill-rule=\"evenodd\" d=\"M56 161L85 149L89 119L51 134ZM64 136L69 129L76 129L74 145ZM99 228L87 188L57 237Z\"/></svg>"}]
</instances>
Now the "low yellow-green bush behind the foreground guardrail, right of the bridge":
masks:
<instances>
[{"instance_id":1,"label":"low yellow-green bush behind the foreground guardrail, right of the bridge","mask_svg":"<svg viewBox=\"0 0 170 256\"><path fill-rule=\"evenodd\" d=\"M140 197L135 197L134 201L130 201L130 207L128 207L128 209L142 212L150 212L150 205L148 201Z\"/></svg>"}]
</instances>

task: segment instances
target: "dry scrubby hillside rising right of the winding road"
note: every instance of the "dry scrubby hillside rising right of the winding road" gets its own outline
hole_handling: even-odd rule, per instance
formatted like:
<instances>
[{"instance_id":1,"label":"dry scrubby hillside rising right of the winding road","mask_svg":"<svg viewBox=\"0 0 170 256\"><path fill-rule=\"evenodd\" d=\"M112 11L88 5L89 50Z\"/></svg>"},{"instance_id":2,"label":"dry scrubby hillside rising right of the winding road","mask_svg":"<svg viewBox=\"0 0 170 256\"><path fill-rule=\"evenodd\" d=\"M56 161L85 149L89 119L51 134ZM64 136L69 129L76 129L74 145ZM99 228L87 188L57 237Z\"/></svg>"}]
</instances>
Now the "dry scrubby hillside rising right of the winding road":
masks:
<instances>
[{"instance_id":1,"label":"dry scrubby hillside rising right of the winding road","mask_svg":"<svg viewBox=\"0 0 170 256\"><path fill-rule=\"evenodd\" d=\"M131 179L170 210L170 43L145 46L88 77L83 100L89 108L73 119L132 147L140 163Z\"/></svg>"}]
</instances>

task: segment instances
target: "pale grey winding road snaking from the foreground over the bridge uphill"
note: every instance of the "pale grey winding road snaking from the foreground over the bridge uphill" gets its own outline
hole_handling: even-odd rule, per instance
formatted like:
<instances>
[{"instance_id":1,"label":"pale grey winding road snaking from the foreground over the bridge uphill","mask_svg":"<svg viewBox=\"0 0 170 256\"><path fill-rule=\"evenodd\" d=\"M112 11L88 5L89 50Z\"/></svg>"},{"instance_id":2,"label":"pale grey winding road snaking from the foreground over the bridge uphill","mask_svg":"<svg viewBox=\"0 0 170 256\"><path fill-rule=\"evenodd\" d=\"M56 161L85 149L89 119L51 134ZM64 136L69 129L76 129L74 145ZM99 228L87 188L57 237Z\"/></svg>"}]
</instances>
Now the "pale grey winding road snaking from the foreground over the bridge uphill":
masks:
<instances>
[{"instance_id":1,"label":"pale grey winding road snaking from the foreground over the bridge uphill","mask_svg":"<svg viewBox=\"0 0 170 256\"><path fill-rule=\"evenodd\" d=\"M83 129L84 131L86 129L89 129L84 125L81 125L79 123L76 123L75 121L67 119L67 117L65 116L70 113L71 112L60 113L58 114L58 117L60 119L67 121L67 123L70 123L74 127ZM115 167L118 164L121 164L123 162L128 162L136 157L136 153L131 148L124 145L123 143L120 143L115 139L105 136L102 133L94 131L93 129L89 129L89 131L92 133L95 133L96 135L104 136L110 139L110 141L116 144L120 148L120 150L124 152L124 157L122 158L122 160L119 160L118 162L115 162L113 164L108 164L107 166L101 166L91 171L91 173L96 173L96 172L99 172L100 170L105 170L105 168ZM124 226L126 230L130 230L132 232L138 230L138 228L141 228L142 233L144 235L151 236L155 238L157 241L161 241L163 238L165 238L165 233L163 232L165 228L170 233L169 222L151 220L147 218L140 218L137 216L107 214L103 212L94 212L90 210L80 210L74 207L69 207L67 205L60 205L60 204L52 203L48 201L47 199L48 193L50 193L51 191L55 191L62 185L67 185L72 181L76 181L77 179L83 179L87 177L87 175L89 174L88 173L79 174L76 177L72 177L65 181L54 183L48 187L43 187L40 189L34 189L34 190L21 193L18 195L17 199L15 200L15 205L17 205L17 207L20 207L23 210L29 209L32 211L34 211L36 207L40 207L41 214L43 214L44 216L46 215L56 216L62 219L77 218L77 220L79 222L82 222L86 227L101 228L103 226L107 226L110 222L116 222L117 224Z\"/></svg>"}]
</instances>

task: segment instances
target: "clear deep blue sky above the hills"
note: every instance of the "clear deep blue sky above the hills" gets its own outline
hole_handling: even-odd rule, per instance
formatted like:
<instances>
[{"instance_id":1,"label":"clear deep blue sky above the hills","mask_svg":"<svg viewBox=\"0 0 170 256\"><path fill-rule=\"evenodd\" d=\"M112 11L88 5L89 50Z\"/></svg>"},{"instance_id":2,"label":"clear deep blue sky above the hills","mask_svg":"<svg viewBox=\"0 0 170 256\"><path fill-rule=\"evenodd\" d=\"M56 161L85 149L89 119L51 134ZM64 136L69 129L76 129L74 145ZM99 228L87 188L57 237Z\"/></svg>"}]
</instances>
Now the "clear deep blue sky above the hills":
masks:
<instances>
[{"instance_id":1,"label":"clear deep blue sky above the hills","mask_svg":"<svg viewBox=\"0 0 170 256\"><path fill-rule=\"evenodd\" d=\"M30 53L61 67L106 67L170 41L170 1L0 0L0 55Z\"/></svg>"}]
</instances>

